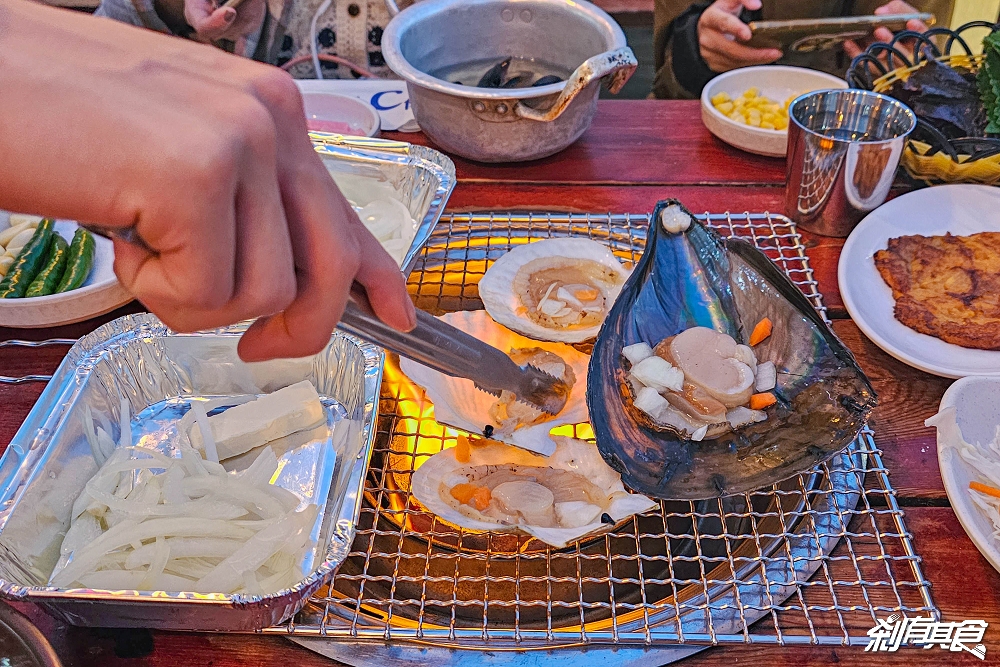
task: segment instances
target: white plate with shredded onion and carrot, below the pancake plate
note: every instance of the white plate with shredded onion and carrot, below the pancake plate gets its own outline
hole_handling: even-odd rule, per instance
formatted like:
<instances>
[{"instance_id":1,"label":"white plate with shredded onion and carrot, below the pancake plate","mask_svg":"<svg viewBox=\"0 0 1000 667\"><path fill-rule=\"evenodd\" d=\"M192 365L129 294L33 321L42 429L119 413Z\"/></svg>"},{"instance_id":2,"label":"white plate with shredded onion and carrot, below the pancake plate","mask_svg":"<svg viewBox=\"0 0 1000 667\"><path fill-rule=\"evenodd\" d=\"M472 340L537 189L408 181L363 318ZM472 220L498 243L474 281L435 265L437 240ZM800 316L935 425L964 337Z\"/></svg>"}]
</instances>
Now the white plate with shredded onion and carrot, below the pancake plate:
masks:
<instances>
[{"instance_id":1,"label":"white plate with shredded onion and carrot, below the pancake plate","mask_svg":"<svg viewBox=\"0 0 1000 667\"><path fill-rule=\"evenodd\" d=\"M958 426L966 442L989 443L1000 424L1000 377L967 377L952 384L941 399L941 409L955 408ZM969 482L981 480L973 467L951 444L937 441L941 481L952 509L969 539L1000 571L1000 545L993 538L993 522L972 501ZM983 480L984 481L984 480Z\"/></svg>"}]
</instances>

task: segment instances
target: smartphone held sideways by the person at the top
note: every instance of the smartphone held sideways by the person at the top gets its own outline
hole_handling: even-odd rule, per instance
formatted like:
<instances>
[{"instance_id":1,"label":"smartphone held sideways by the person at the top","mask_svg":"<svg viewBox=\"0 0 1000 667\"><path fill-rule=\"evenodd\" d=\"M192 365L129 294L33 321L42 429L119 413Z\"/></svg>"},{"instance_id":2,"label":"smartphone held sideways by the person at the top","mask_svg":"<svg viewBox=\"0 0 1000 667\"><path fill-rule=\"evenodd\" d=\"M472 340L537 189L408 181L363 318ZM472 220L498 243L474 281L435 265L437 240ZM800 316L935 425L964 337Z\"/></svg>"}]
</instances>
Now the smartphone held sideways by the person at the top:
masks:
<instances>
[{"instance_id":1,"label":"smartphone held sideways by the person at the top","mask_svg":"<svg viewBox=\"0 0 1000 667\"><path fill-rule=\"evenodd\" d=\"M907 22L916 19L934 24L933 14L885 14L843 16L787 21L751 21L752 37L747 46L781 49L785 53L811 53L840 46L849 39L864 39L876 28L899 32Z\"/></svg>"}]
</instances>

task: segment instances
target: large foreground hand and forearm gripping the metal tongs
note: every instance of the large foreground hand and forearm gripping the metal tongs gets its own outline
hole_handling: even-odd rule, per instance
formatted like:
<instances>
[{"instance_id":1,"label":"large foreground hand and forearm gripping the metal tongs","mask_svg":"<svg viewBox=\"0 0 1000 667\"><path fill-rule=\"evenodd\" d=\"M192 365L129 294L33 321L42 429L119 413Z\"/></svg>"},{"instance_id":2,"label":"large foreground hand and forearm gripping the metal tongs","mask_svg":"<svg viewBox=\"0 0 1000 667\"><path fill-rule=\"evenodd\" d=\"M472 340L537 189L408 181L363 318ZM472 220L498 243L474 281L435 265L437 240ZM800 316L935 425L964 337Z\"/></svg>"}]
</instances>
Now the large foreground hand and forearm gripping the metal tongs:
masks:
<instances>
[{"instance_id":1,"label":"large foreground hand and forearm gripping the metal tongs","mask_svg":"<svg viewBox=\"0 0 1000 667\"><path fill-rule=\"evenodd\" d=\"M244 359L311 354L355 280L414 325L284 72L24 0L0 0L0 61L0 207L133 227L153 252L115 241L115 273L168 326L258 318Z\"/></svg>"}]
</instances>

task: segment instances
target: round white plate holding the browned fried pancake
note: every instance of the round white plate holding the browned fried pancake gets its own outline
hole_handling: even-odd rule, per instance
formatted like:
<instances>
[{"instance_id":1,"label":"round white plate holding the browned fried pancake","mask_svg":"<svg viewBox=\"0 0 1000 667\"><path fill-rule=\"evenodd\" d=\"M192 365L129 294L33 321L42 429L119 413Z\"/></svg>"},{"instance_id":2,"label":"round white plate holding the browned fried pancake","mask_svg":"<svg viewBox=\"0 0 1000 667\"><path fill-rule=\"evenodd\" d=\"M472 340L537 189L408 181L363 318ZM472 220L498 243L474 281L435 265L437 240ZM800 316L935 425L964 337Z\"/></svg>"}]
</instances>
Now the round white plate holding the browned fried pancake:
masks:
<instances>
[{"instance_id":1,"label":"round white plate holding the browned fried pancake","mask_svg":"<svg viewBox=\"0 0 1000 667\"><path fill-rule=\"evenodd\" d=\"M922 371L950 378L1000 374L1000 352L946 343L900 323L893 314L892 290L874 259L897 236L1000 231L998 212L1000 188L939 185L907 193L869 213L848 237L837 269L840 295L854 322L880 348Z\"/></svg>"}]
</instances>

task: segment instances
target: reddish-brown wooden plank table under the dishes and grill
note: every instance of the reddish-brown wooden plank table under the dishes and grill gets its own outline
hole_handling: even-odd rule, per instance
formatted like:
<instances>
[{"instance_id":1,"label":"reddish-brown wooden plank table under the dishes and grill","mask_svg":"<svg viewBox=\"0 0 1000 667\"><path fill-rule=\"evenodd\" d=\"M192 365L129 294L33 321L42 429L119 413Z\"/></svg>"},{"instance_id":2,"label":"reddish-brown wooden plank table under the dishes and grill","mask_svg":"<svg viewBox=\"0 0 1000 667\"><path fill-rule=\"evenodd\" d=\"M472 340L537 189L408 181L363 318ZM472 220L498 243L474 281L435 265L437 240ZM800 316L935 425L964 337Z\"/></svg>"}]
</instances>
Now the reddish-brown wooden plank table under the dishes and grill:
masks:
<instances>
[{"instance_id":1,"label":"reddish-brown wooden plank table under the dishes and grill","mask_svg":"<svg viewBox=\"0 0 1000 667\"><path fill-rule=\"evenodd\" d=\"M393 138L426 143L421 135ZM532 209L646 212L677 197L695 211L781 211L784 161L741 153L702 126L698 102L601 101L587 134L559 155L532 164L489 166L456 159L459 184L449 210ZM819 288L837 334L853 350L879 394L873 425L891 481L934 601L946 620L985 619L987 661L1000 653L1000 575L962 531L938 471L935 437L923 421L936 412L949 381L916 371L871 343L847 317L837 288L843 241L804 234ZM77 337L139 309L137 304L79 325L44 331L0 328L0 340ZM51 373L65 348L0 349L0 374ZM0 443L4 446L42 390L39 383L0 385ZM24 607L21 607L24 609ZM114 665L120 654L146 653L155 665L329 665L330 661L278 637L114 633L68 628L38 611L31 616L67 665ZM149 643L152 650L149 652ZM860 647L734 646L704 651L685 665L979 665L968 654L901 649L877 656ZM121 661L134 664L136 661ZM995 664L995 663L994 663Z\"/></svg>"}]
</instances>

